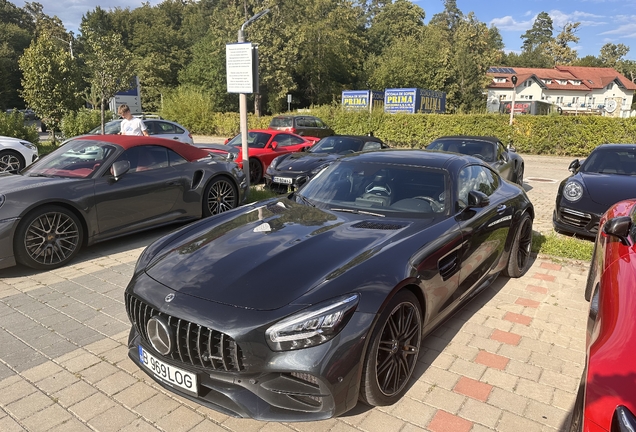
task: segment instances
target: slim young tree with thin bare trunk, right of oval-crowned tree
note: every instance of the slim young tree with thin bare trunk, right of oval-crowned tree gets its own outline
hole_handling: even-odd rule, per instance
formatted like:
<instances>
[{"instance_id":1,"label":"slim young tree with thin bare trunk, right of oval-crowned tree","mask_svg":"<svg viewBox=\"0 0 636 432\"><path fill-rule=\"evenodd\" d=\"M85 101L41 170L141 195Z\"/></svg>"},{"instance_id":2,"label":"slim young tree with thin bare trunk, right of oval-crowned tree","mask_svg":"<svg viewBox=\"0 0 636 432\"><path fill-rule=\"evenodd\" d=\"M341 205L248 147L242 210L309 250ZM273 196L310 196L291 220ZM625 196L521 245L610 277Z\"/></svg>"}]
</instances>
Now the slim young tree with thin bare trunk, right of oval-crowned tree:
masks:
<instances>
[{"instance_id":1,"label":"slim young tree with thin bare trunk, right of oval-crowned tree","mask_svg":"<svg viewBox=\"0 0 636 432\"><path fill-rule=\"evenodd\" d=\"M99 95L103 134L104 110L108 101L117 92L130 88L134 74L133 56L118 34L90 33L87 36L87 51L82 58L86 62L88 82L94 93Z\"/></svg>"}]
</instances>

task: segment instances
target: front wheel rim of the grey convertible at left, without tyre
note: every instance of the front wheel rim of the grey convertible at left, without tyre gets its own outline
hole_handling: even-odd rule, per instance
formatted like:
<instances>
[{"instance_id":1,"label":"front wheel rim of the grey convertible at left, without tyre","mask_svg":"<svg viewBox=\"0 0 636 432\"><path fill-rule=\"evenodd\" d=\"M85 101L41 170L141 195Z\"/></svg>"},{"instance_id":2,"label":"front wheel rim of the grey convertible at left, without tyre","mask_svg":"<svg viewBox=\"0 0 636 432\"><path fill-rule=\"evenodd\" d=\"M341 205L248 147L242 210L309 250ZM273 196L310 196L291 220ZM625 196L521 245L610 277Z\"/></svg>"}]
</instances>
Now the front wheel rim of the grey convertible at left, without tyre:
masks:
<instances>
[{"instance_id":1,"label":"front wheel rim of the grey convertible at left, without tyre","mask_svg":"<svg viewBox=\"0 0 636 432\"><path fill-rule=\"evenodd\" d=\"M65 213L44 213L27 228L24 246L33 261L44 265L59 264L78 248L78 226Z\"/></svg>"}]
</instances>

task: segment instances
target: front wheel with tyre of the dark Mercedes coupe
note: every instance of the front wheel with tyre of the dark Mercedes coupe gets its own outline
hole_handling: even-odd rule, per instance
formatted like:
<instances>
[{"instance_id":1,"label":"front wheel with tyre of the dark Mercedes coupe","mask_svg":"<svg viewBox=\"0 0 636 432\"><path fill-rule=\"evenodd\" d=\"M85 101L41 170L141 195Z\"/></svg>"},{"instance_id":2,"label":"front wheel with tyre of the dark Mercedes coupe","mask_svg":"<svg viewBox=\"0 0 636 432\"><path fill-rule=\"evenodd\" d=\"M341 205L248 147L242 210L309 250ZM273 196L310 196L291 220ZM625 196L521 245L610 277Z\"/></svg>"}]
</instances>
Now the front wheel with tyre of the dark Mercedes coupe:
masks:
<instances>
[{"instance_id":1,"label":"front wheel with tyre of the dark Mercedes coupe","mask_svg":"<svg viewBox=\"0 0 636 432\"><path fill-rule=\"evenodd\" d=\"M372 406L391 405L406 392L422 340L417 298L402 291L382 312L367 349L360 399Z\"/></svg>"}]
</instances>

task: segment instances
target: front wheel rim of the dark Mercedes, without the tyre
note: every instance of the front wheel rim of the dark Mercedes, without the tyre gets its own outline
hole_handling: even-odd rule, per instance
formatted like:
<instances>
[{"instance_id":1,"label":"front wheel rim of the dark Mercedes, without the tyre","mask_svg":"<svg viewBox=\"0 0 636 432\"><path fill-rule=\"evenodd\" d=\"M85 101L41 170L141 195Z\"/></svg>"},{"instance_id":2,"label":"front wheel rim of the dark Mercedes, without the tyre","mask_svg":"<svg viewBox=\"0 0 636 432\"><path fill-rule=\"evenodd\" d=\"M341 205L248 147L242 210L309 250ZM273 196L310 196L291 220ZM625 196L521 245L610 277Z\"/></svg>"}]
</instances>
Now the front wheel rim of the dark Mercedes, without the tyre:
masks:
<instances>
[{"instance_id":1,"label":"front wheel rim of the dark Mercedes, without the tyre","mask_svg":"<svg viewBox=\"0 0 636 432\"><path fill-rule=\"evenodd\" d=\"M376 379L385 396L395 396L406 386L415 369L421 338L419 309L400 303L384 324L378 345Z\"/></svg>"}]
</instances>

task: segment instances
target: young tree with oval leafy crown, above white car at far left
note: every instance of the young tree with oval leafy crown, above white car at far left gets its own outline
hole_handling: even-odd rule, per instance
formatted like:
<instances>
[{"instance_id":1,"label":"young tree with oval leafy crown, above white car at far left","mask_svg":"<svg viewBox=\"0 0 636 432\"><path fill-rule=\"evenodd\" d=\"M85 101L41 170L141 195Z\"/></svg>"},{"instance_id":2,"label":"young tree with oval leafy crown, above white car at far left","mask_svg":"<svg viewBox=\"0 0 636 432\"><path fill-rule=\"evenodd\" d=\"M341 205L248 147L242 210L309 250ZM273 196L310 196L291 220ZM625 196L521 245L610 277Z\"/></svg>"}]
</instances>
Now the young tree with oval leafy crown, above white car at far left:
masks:
<instances>
[{"instance_id":1,"label":"young tree with oval leafy crown, above white car at far left","mask_svg":"<svg viewBox=\"0 0 636 432\"><path fill-rule=\"evenodd\" d=\"M27 104L55 130L65 113L81 106L81 76L78 64L67 47L60 48L44 32L31 43L19 60L22 70L21 95Z\"/></svg>"}]
</instances>

